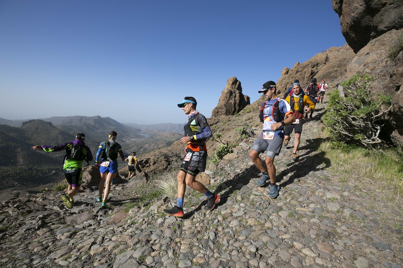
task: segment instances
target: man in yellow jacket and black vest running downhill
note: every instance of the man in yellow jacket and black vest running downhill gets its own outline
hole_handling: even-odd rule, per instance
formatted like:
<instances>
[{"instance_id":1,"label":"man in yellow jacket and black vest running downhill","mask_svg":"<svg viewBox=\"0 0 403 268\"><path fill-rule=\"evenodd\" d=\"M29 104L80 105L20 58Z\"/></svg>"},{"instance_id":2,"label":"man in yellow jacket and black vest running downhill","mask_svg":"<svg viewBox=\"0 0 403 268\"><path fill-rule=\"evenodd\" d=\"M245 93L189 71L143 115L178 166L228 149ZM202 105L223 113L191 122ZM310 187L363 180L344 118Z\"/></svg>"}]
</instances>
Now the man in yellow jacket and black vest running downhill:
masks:
<instances>
[{"instance_id":1,"label":"man in yellow jacket and black vest running downhill","mask_svg":"<svg viewBox=\"0 0 403 268\"><path fill-rule=\"evenodd\" d=\"M286 147L288 145L291 132L293 132L294 129L294 150L293 154L291 155L291 160L295 162L295 160L297 160L299 137L301 137L302 132L303 114L313 111L315 109L315 104L308 96L302 94L301 85L299 83L293 84L293 94L291 96L287 96L285 100L290 104L291 110L294 112L295 122L284 127L283 146ZM305 108L305 106L308 107Z\"/></svg>"}]
</instances>

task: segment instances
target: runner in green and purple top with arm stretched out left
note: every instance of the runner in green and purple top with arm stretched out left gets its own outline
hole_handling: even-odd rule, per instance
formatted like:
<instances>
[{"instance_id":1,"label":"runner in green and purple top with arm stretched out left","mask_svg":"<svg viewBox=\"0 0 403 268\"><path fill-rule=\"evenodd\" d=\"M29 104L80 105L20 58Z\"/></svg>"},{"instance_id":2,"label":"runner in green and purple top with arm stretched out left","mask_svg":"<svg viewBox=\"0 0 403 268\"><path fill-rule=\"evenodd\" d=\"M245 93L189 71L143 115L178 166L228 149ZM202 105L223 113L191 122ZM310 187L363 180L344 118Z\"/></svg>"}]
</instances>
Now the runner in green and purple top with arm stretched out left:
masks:
<instances>
[{"instance_id":1,"label":"runner in green and purple top with arm stretched out left","mask_svg":"<svg viewBox=\"0 0 403 268\"><path fill-rule=\"evenodd\" d=\"M81 186L81 177L83 176L83 162L92 161L92 153L87 145L85 145L85 135L84 133L78 133L75 136L75 140L72 142L64 143L62 145L54 146L39 146L35 145L32 149L42 149L46 152L57 152L66 150L66 155L64 155L64 176L69 184L67 187L67 194L62 196L62 200L68 209L73 208L74 198Z\"/></svg>"}]
</instances>

